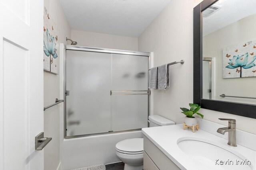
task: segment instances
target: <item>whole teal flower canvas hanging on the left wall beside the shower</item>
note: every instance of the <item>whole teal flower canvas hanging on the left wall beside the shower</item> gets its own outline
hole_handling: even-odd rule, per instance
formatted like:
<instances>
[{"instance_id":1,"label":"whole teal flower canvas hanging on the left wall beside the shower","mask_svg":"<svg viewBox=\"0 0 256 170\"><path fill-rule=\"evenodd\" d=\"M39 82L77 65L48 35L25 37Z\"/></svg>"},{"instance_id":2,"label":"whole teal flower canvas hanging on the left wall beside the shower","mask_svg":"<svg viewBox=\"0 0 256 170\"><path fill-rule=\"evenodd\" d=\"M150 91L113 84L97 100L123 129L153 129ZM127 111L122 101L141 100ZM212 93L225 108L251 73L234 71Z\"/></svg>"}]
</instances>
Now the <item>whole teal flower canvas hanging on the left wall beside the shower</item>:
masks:
<instances>
[{"instance_id":1,"label":"whole teal flower canvas hanging on the left wall beside the shower","mask_svg":"<svg viewBox=\"0 0 256 170\"><path fill-rule=\"evenodd\" d=\"M44 8L44 70L58 74L58 27Z\"/></svg>"}]
</instances>

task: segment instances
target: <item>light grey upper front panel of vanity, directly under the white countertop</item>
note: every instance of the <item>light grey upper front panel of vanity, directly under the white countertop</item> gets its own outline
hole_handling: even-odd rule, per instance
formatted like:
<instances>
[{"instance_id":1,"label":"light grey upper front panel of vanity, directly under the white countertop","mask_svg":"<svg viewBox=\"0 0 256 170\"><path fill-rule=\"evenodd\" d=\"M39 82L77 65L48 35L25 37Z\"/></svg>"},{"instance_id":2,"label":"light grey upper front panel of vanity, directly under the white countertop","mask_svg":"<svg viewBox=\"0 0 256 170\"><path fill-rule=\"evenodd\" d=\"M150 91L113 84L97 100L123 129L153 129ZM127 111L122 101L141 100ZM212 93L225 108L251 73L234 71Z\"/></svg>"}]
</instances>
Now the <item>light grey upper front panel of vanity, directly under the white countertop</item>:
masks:
<instances>
[{"instance_id":1,"label":"light grey upper front panel of vanity, directly under the white countertop","mask_svg":"<svg viewBox=\"0 0 256 170\"><path fill-rule=\"evenodd\" d=\"M180 170L154 143L144 136L144 150L160 170Z\"/></svg>"}]
</instances>

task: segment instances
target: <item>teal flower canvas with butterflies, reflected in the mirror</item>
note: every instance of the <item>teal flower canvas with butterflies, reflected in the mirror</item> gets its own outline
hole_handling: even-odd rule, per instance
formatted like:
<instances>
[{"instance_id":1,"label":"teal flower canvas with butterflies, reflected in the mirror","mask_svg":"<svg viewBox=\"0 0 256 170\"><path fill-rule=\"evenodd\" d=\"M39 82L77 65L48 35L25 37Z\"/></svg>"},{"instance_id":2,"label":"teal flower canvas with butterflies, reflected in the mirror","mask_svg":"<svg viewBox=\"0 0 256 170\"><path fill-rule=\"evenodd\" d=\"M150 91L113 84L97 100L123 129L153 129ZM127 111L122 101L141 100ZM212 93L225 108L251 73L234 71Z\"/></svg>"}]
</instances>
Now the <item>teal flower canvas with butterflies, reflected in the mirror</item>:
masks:
<instances>
[{"instance_id":1,"label":"teal flower canvas with butterflies, reflected in the mirror","mask_svg":"<svg viewBox=\"0 0 256 170\"><path fill-rule=\"evenodd\" d=\"M256 77L256 40L223 49L223 78Z\"/></svg>"}]
</instances>

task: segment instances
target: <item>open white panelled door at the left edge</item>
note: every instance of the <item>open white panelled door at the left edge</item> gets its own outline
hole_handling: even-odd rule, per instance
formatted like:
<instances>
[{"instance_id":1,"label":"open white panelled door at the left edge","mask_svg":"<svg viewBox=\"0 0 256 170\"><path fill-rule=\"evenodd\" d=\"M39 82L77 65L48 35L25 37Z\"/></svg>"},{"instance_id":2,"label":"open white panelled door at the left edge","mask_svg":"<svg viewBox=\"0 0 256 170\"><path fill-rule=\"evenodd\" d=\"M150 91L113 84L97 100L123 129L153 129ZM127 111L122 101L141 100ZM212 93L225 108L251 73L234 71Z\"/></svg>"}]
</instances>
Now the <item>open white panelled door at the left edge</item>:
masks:
<instances>
[{"instance_id":1,"label":"open white panelled door at the left edge","mask_svg":"<svg viewBox=\"0 0 256 170\"><path fill-rule=\"evenodd\" d=\"M43 170L43 0L0 0L0 170ZM47 146L46 146L47 147Z\"/></svg>"}]
</instances>

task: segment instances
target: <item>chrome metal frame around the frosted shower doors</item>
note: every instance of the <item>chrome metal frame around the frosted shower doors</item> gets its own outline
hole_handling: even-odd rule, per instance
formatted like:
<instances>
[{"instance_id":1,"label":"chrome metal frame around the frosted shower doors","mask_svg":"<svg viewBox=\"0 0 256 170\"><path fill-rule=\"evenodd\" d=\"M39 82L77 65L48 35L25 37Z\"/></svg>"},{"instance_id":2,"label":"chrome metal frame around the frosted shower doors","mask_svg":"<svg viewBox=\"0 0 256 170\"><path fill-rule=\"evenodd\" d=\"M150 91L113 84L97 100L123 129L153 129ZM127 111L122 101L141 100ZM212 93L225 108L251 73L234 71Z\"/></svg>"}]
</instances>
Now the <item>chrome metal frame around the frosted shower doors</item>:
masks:
<instances>
[{"instance_id":1,"label":"chrome metal frame around the frosted shower doors","mask_svg":"<svg viewBox=\"0 0 256 170\"><path fill-rule=\"evenodd\" d=\"M67 130L66 129L66 50L146 56L146 57L148 57L148 69L150 68L150 53L147 53L147 52L65 45L65 48L64 48L64 82L63 82L64 83L63 84L64 85L64 92L63 92L63 96L64 96L64 139L88 137L88 136L95 136L95 135L105 135L105 134L111 134L111 133L140 131L141 129L131 129L131 130L126 130L126 131L114 131L114 132L94 133L94 134L88 134L88 135L67 136L67 134L66 134L66 130ZM149 85L149 78L150 77L148 74L148 85ZM149 116L149 114L150 114L150 89L148 89L148 91L149 91L149 93L148 93L148 116ZM149 123L148 123L148 127L149 127Z\"/></svg>"}]
</instances>

